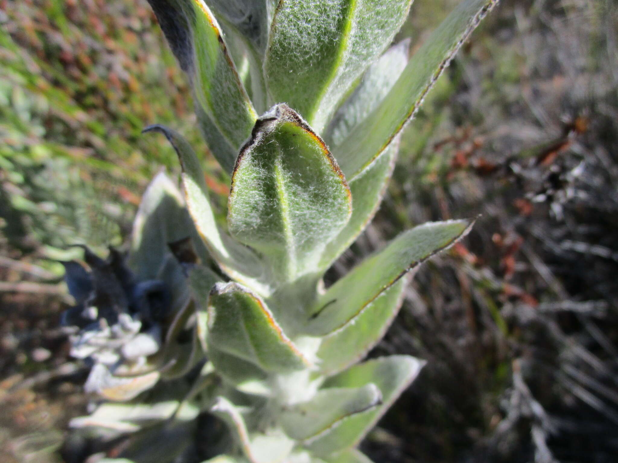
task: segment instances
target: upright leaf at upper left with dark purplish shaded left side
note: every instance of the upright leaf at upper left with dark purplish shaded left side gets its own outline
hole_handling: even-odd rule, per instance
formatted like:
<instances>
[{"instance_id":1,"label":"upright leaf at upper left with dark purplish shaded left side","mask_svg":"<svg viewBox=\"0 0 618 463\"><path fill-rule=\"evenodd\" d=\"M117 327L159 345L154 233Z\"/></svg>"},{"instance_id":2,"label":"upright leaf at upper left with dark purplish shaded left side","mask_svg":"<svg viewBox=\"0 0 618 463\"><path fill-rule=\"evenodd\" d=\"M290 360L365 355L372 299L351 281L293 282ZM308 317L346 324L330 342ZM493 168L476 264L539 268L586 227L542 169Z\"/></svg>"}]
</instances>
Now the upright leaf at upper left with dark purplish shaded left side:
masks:
<instances>
[{"instance_id":1,"label":"upright leaf at upper left with dark purplish shaded left side","mask_svg":"<svg viewBox=\"0 0 618 463\"><path fill-rule=\"evenodd\" d=\"M251 132L256 113L227 51L221 28L203 0L149 0L193 87L195 106L214 157L227 172ZM214 142L214 143L213 143Z\"/></svg>"}]
</instances>

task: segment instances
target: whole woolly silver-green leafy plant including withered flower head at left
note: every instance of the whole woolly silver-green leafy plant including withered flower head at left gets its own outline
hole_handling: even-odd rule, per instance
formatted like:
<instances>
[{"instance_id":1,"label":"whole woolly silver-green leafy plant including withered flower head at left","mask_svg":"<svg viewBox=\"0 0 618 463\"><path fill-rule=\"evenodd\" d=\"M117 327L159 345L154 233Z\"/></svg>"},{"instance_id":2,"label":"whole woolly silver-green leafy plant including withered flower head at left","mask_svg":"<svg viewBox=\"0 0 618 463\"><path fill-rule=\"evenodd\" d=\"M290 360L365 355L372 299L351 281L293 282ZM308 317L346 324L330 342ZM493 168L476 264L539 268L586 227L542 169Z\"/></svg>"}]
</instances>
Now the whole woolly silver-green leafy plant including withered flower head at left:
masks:
<instances>
[{"instance_id":1,"label":"whole woolly silver-green leafy plant including withered flower head at left","mask_svg":"<svg viewBox=\"0 0 618 463\"><path fill-rule=\"evenodd\" d=\"M87 251L90 272L67 271L91 282L74 293L74 351L108 399L72 425L105 436L108 461L368 462L357 444L423 362L358 361L405 275L472 223L420 225L322 278L375 214L402 127L496 0L461 1L410 59L408 41L391 46L410 0L149 1L231 175L227 223L187 141L146 128L176 150L182 196L159 174L127 262Z\"/></svg>"}]
</instances>

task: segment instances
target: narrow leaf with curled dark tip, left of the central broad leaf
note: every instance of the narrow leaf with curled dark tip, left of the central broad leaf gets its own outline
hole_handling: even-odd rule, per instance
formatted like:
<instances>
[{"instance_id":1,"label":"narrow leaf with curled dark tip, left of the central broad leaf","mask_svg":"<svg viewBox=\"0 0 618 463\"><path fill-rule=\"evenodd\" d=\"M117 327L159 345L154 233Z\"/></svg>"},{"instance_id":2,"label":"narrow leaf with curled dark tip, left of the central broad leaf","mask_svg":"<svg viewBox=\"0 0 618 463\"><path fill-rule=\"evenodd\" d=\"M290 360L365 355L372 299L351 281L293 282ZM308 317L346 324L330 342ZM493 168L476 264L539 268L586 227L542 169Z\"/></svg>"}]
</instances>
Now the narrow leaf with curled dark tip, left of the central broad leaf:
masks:
<instances>
[{"instance_id":1,"label":"narrow leaf with curled dark tip, left of the central broad leaf","mask_svg":"<svg viewBox=\"0 0 618 463\"><path fill-rule=\"evenodd\" d=\"M258 292L268 293L268 286L263 283L268 277L259 258L250 249L219 231L208 200L204 173L188 142L179 133L163 125L151 125L144 131L163 133L176 150L182 166L182 186L188 211L201 240L219 267L231 278Z\"/></svg>"}]
</instances>

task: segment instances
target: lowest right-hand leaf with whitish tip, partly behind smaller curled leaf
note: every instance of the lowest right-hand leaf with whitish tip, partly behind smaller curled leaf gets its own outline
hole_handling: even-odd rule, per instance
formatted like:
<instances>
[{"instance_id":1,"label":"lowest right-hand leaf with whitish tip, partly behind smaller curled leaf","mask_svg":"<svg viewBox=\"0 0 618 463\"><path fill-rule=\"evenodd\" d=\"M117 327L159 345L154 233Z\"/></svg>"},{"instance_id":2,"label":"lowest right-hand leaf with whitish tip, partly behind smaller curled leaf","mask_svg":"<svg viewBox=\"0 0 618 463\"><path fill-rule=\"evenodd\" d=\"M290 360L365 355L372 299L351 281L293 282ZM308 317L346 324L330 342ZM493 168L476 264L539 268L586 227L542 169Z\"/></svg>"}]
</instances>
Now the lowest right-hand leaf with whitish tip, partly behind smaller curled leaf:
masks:
<instances>
[{"instance_id":1,"label":"lowest right-hand leaf with whitish tip, partly behind smaller curled leaf","mask_svg":"<svg viewBox=\"0 0 618 463\"><path fill-rule=\"evenodd\" d=\"M328 378L324 382L324 389L357 388L374 383L382 393L382 404L370 411L349 417L331 433L305 444L305 447L318 457L328 457L331 453L356 446L417 377L423 364L424 362L410 356L381 357L355 365Z\"/></svg>"}]
</instances>

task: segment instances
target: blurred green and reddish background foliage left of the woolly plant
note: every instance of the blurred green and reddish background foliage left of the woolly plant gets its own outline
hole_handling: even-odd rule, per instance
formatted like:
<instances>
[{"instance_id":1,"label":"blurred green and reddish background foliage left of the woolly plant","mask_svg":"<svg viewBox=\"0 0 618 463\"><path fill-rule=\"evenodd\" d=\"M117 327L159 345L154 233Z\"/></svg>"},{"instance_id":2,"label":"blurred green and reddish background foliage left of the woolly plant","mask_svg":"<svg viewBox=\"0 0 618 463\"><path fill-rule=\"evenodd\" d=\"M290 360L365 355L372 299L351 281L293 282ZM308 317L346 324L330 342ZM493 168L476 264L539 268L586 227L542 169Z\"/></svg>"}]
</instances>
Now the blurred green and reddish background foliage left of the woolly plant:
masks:
<instances>
[{"instance_id":1,"label":"blurred green and reddish background foliage left of the woolly plant","mask_svg":"<svg viewBox=\"0 0 618 463\"><path fill-rule=\"evenodd\" d=\"M2 1L0 14L4 246L58 257L75 242L120 244L146 183L177 170L171 148L142 128L180 128L205 154L150 7Z\"/></svg>"}]
</instances>

